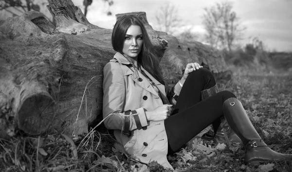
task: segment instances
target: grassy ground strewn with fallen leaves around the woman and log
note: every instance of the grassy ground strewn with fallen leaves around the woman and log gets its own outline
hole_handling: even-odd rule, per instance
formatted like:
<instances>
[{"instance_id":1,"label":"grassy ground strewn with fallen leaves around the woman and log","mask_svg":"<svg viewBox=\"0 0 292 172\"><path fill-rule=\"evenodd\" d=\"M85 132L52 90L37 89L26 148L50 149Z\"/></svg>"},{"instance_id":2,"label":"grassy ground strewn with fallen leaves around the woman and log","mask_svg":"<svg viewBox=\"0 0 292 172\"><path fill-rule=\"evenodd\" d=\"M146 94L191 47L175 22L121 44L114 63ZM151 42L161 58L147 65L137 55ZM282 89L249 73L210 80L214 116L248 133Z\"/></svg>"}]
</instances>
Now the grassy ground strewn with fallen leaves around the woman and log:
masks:
<instances>
[{"instance_id":1,"label":"grassy ground strewn with fallen leaves around the woman and log","mask_svg":"<svg viewBox=\"0 0 292 172\"><path fill-rule=\"evenodd\" d=\"M263 140L280 153L292 154L292 74L231 68L233 79L220 90L234 92ZM39 137L20 135L0 139L1 172L168 172L156 162L140 164L120 151L106 130L72 140L62 134ZM168 156L177 172L291 172L292 162L244 164L238 144L215 144L194 139Z\"/></svg>"}]
</instances>

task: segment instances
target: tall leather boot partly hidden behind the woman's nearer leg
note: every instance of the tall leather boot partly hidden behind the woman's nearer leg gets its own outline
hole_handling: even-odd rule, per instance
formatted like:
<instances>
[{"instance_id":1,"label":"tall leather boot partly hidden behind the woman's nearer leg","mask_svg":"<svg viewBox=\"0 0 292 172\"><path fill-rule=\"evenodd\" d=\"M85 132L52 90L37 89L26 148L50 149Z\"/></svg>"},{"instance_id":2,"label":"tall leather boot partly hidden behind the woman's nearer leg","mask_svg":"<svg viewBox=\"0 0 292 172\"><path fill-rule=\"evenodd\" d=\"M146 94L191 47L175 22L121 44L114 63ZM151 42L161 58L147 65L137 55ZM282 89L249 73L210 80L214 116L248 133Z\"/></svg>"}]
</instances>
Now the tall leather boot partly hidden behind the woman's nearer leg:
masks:
<instances>
[{"instance_id":1,"label":"tall leather boot partly hidden behind the woman's nearer leg","mask_svg":"<svg viewBox=\"0 0 292 172\"><path fill-rule=\"evenodd\" d=\"M217 84L209 89L204 89L201 91L202 100L211 97L212 95L219 92ZM215 129L216 130L216 129ZM214 135L213 135L214 136ZM230 146L230 142L241 143L241 139L232 131L229 127L226 119L221 117L221 122L219 128L217 129L217 133L214 136L214 140L217 143L227 143Z\"/></svg>"}]
</instances>

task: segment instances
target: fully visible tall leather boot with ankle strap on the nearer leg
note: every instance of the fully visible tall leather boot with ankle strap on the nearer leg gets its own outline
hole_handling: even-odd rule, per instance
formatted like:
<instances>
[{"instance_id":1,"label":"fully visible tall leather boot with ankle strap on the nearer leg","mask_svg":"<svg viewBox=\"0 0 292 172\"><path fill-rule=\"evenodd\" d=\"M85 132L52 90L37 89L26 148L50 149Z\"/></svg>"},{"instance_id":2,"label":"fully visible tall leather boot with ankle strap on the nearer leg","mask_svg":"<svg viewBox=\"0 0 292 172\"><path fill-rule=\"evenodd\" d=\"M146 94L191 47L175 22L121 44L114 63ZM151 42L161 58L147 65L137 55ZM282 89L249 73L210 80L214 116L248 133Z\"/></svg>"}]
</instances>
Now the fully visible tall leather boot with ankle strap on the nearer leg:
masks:
<instances>
[{"instance_id":1,"label":"fully visible tall leather boot with ankle strap on the nearer leg","mask_svg":"<svg viewBox=\"0 0 292 172\"><path fill-rule=\"evenodd\" d=\"M292 154L280 154L267 146L256 132L239 100L236 98L227 99L223 103L223 113L231 129L245 145L245 162L292 160Z\"/></svg>"}]
</instances>

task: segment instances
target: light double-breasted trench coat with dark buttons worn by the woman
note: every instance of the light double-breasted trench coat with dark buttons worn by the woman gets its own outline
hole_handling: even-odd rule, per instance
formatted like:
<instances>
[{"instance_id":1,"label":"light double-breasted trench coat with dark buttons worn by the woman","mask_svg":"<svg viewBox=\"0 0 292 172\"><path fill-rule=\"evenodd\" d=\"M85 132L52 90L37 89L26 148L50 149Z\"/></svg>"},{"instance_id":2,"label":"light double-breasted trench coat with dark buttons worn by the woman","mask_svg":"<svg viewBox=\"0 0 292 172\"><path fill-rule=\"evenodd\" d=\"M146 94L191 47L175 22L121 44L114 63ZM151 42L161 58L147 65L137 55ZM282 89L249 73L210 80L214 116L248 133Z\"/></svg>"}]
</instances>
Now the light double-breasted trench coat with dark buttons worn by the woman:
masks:
<instances>
[{"instance_id":1,"label":"light double-breasted trench coat with dark buttons worn by the woman","mask_svg":"<svg viewBox=\"0 0 292 172\"><path fill-rule=\"evenodd\" d=\"M165 88L146 70L142 70L156 84L161 98L146 77L121 53L117 52L104 67L104 124L114 130L115 138L135 160L146 164L155 160L173 169L166 158L168 145L164 121L147 121L145 115L145 111L169 104ZM176 95L179 95L181 88L179 83L175 86ZM129 132L124 134L125 131Z\"/></svg>"}]
</instances>

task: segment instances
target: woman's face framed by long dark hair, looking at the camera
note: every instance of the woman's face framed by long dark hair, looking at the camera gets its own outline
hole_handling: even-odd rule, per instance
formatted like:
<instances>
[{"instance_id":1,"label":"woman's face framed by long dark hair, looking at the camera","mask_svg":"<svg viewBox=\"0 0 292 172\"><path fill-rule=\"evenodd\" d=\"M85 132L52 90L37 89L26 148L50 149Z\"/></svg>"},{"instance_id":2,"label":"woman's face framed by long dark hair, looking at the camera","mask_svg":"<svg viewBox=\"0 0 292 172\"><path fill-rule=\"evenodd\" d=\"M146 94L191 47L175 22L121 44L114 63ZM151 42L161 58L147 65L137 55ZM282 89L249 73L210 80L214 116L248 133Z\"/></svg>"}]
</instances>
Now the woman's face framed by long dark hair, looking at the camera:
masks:
<instances>
[{"instance_id":1,"label":"woman's face framed by long dark hair, looking at the camera","mask_svg":"<svg viewBox=\"0 0 292 172\"><path fill-rule=\"evenodd\" d=\"M123 53L135 58L141 52L143 46L143 35L140 26L131 25L125 36Z\"/></svg>"}]
</instances>

